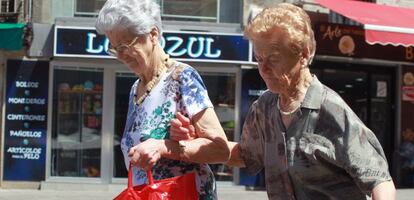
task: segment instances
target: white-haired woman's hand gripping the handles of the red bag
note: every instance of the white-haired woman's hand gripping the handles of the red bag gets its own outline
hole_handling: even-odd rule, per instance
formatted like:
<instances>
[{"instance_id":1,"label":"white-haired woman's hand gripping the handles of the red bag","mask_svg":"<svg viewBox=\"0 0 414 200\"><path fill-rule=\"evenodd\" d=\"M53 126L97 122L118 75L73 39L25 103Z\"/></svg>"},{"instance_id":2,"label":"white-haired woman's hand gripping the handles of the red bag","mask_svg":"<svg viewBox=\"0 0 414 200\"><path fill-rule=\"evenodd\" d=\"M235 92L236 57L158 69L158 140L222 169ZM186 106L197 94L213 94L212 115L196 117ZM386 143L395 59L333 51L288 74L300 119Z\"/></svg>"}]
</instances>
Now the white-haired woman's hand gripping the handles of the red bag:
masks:
<instances>
[{"instance_id":1,"label":"white-haired woman's hand gripping the handles of the red bag","mask_svg":"<svg viewBox=\"0 0 414 200\"><path fill-rule=\"evenodd\" d=\"M149 138L133 146L128 152L132 165L143 169L151 169L161 158L161 142L162 140Z\"/></svg>"}]
</instances>

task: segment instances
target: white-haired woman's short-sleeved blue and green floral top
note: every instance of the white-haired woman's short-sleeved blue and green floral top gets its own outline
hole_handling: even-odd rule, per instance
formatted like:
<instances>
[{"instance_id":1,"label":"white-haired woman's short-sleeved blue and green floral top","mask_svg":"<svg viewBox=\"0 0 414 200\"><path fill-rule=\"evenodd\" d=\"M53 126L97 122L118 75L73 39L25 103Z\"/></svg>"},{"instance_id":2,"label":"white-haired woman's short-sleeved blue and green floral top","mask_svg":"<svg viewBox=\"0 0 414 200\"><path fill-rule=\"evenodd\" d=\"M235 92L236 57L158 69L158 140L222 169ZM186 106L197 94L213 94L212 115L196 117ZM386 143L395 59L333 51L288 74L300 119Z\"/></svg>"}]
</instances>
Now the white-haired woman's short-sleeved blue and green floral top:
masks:
<instances>
[{"instance_id":1,"label":"white-haired woman's short-sleeved blue and green floral top","mask_svg":"<svg viewBox=\"0 0 414 200\"><path fill-rule=\"evenodd\" d=\"M200 111L213 107L206 87L197 71L179 62L174 62L159 83L140 105L133 102L137 80L131 88L128 116L121 140L125 165L129 166L128 150L148 138L169 139L170 121L180 111L192 117ZM207 164L187 163L161 158L153 167L156 180L196 172L196 185L199 199L217 199L214 174ZM147 182L144 169L133 167L133 184Z\"/></svg>"}]
</instances>

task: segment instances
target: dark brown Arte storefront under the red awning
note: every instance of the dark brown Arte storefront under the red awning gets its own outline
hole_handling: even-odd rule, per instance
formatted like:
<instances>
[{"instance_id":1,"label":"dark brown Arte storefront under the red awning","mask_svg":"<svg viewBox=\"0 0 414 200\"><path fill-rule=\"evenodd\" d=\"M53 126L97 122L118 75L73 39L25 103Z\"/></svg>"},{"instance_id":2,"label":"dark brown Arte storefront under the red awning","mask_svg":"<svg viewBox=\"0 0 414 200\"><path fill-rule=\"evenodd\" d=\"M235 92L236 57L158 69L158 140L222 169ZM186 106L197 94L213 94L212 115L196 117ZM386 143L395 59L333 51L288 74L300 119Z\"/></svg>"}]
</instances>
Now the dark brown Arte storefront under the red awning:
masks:
<instances>
[{"instance_id":1,"label":"dark brown Arte storefront under the red awning","mask_svg":"<svg viewBox=\"0 0 414 200\"><path fill-rule=\"evenodd\" d=\"M412 112L409 114L407 109L412 109L412 104L402 93L409 95L413 85L410 81L404 83L403 77L411 77L406 71L414 69L414 48L370 45L364 30L356 26L319 24L314 30L317 56L311 71L338 92L376 134L397 186L413 187L414 182L405 181L405 168L411 167L411 177L414 172L407 164L413 130L408 122Z\"/></svg>"}]
</instances>

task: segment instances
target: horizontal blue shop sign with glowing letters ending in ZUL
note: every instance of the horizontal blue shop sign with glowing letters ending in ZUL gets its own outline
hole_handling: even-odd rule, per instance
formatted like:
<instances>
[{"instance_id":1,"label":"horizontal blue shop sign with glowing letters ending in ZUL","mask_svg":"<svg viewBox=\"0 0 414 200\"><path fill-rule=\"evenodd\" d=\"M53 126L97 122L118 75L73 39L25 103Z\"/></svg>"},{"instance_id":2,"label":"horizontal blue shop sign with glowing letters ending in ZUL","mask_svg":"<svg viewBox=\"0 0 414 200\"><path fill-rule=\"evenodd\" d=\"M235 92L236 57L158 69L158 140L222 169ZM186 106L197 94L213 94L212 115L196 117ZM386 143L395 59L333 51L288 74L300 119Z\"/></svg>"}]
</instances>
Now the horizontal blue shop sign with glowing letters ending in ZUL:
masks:
<instances>
[{"instance_id":1,"label":"horizontal blue shop sign with glowing letters ending in ZUL","mask_svg":"<svg viewBox=\"0 0 414 200\"><path fill-rule=\"evenodd\" d=\"M54 56L113 58L106 51L109 41L94 28L55 29ZM161 46L171 57L205 62L247 63L250 44L241 34L164 32Z\"/></svg>"}]
</instances>

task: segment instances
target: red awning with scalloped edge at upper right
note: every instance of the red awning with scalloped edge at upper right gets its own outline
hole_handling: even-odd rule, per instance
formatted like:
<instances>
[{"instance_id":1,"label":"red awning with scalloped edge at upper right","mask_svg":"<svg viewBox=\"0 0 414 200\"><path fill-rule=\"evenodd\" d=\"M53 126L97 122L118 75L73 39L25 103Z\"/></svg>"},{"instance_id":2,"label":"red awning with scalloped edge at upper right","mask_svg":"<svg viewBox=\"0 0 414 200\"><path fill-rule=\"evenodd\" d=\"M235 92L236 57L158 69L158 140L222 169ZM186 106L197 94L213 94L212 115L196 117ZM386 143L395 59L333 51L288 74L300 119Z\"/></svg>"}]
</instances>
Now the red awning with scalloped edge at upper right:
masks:
<instances>
[{"instance_id":1,"label":"red awning with scalloped edge at upper right","mask_svg":"<svg viewBox=\"0 0 414 200\"><path fill-rule=\"evenodd\" d=\"M414 9L353 0L314 0L364 24L369 44L414 46Z\"/></svg>"}]
</instances>

